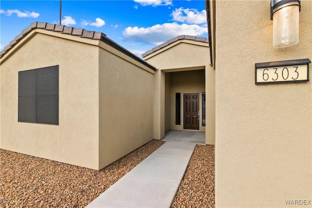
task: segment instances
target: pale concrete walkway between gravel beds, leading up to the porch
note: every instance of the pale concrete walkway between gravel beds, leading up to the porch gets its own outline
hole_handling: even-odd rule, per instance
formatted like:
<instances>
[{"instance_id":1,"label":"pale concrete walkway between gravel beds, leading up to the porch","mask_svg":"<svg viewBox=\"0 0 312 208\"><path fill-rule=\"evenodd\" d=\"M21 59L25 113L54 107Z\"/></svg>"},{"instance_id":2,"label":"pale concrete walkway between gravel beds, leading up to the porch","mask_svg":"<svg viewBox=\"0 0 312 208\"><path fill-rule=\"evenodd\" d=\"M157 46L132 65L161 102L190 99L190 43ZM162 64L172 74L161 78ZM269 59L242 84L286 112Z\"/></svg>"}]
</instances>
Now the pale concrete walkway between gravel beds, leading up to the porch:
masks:
<instances>
[{"instance_id":1,"label":"pale concrete walkway between gravel beds, leading up to the porch","mask_svg":"<svg viewBox=\"0 0 312 208\"><path fill-rule=\"evenodd\" d=\"M87 208L169 208L195 145L166 142Z\"/></svg>"}]
</instances>

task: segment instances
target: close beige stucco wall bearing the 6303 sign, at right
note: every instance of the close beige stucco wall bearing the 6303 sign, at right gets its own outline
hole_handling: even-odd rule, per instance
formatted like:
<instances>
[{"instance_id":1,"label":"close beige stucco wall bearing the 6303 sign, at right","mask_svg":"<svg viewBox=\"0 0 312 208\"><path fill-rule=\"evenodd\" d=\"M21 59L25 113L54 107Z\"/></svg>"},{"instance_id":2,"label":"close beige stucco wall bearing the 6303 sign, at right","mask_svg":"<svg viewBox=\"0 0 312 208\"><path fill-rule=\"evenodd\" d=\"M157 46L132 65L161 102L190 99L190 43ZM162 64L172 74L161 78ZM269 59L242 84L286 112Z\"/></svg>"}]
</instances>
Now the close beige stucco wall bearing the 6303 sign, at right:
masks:
<instances>
[{"instance_id":1,"label":"close beige stucco wall bearing the 6303 sign, at right","mask_svg":"<svg viewBox=\"0 0 312 208\"><path fill-rule=\"evenodd\" d=\"M255 85L254 64L312 60L312 1L284 49L273 48L269 0L215 6L215 205L298 207L285 200L312 199L312 83Z\"/></svg>"}]
</instances>

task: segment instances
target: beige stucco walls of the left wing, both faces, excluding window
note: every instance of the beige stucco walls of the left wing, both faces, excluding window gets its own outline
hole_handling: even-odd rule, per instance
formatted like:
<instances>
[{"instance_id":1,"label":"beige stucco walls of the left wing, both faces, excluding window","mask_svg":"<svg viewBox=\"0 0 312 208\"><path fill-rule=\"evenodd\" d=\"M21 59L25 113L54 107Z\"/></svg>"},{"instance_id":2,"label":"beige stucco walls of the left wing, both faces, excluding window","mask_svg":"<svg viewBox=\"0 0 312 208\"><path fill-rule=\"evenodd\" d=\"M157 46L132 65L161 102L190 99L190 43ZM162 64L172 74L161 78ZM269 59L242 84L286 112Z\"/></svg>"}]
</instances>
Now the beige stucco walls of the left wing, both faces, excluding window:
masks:
<instances>
[{"instance_id":1,"label":"beige stucco walls of the left wing, both faces, excluding window","mask_svg":"<svg viewBox=\"0 0 312 208\"><path fill-rule=\"evenodd\" d=\"M100 40L35 29L0 64L1 149L99 170L153 139L154 71ZM18 122L18 72L53 65L59 125Z\"/></svg>"}]
</instances>

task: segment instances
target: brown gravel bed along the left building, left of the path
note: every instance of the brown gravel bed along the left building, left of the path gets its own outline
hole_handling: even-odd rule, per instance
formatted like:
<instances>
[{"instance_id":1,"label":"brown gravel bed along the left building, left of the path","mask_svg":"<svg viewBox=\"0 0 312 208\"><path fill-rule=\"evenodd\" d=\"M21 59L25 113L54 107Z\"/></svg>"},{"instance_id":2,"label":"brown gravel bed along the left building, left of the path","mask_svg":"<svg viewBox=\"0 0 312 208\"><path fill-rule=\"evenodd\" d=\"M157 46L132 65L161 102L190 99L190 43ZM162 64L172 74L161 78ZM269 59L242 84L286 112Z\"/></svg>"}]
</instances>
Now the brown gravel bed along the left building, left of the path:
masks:
<instances>
[{"instance_id":1,"label":"brown gravel bed along the left building, left of the path","mask_svg":"<svg viewBox=\"0 0 312 208\"><path fill-rule=\"evenodd\" d=\"M163 143L152 140L100 171L0 150L0 207L84 208Z\"/></svg>"}]
</instances>

